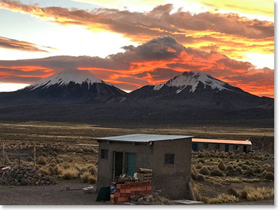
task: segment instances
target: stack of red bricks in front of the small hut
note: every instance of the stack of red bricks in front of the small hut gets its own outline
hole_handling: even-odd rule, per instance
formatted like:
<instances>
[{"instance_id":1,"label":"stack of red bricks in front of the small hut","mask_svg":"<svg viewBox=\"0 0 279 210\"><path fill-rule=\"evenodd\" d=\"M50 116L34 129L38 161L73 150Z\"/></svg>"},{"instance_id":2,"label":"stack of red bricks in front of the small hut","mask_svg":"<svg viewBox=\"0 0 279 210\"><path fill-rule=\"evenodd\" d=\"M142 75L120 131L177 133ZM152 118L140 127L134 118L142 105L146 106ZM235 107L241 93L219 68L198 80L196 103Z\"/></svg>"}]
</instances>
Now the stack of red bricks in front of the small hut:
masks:
<instances>
[{"instance_id":1,"label":"stack of red bricks in front of the small hut","mask_svg":"<svg viewBox=\"0 0 279 210\"><path fill-rule=\"evenodd\" d=\"M135 183L125 181L123 184L117 184L114 191L114 204L127 202L130 197L146 196L151 194L151 182Z\"/></svg>"}]
</instances>

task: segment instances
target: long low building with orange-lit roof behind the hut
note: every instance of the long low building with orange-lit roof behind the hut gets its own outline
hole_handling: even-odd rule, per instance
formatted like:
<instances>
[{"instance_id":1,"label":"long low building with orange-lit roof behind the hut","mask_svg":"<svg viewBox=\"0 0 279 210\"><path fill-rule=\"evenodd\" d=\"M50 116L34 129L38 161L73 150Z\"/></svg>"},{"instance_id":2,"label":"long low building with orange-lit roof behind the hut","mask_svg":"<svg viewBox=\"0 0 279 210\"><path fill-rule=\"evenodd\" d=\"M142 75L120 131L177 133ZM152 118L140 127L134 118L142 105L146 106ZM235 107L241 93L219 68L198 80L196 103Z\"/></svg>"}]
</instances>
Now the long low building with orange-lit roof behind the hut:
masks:
<instances>
[{"instance_id":1,"label":"long low building with orange-lit roof behind the hut","mask_svg":"<svg viewBox=\"0 0 279 210\"><path fill-rule=\"evenodd\" d=\"M252 143L249 140L210 140L210 139L192 139L192 150L219 150L244 152L251 150Z\"/></svg>"}]
</instances>

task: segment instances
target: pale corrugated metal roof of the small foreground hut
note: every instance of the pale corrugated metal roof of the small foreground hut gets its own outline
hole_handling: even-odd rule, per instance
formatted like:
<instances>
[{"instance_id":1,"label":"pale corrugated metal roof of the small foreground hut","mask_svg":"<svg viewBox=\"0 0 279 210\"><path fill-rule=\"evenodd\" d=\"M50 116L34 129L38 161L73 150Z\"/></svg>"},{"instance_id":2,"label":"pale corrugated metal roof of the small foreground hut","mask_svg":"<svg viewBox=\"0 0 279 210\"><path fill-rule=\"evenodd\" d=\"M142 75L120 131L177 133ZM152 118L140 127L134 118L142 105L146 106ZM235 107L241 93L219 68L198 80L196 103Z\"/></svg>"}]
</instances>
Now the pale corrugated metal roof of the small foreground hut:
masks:
<instances>
[{"instance_id":1,"label":"pale corrugated metal roof of the small foreground hut","mask_svg":"<svg viewBox=\"0 0 279 210\"><path fill-rule=\"evenodd\" d=\"M115 142L155 142L164 140L180 140L193 137L191 135L156 135L156 134L130 134L130 135L117 135L111 137L97 137L95 140L106 140Z\"/></svg>"}]
</instances>

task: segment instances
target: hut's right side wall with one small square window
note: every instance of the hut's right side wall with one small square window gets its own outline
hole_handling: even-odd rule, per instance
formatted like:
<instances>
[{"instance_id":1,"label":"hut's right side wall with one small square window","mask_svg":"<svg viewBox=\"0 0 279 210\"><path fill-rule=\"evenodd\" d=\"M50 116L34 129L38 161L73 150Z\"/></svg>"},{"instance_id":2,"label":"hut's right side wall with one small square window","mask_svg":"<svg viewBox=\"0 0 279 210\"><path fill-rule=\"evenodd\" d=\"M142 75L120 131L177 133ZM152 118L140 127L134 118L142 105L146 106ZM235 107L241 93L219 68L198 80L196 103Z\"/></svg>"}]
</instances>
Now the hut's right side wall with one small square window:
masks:
<instances>
[{"instance_id":1,"label":"hut's right side wall with one small square window","mask_svg":"<svg viewBox=\"0 0 279 210\"><path fill-rule=\"evenodd\" d=\"M191 138L154 142L152 190L171 199L189 198ZM165 154L174 154L174 164L165 164Z\"/></svg>"}]
</instances>

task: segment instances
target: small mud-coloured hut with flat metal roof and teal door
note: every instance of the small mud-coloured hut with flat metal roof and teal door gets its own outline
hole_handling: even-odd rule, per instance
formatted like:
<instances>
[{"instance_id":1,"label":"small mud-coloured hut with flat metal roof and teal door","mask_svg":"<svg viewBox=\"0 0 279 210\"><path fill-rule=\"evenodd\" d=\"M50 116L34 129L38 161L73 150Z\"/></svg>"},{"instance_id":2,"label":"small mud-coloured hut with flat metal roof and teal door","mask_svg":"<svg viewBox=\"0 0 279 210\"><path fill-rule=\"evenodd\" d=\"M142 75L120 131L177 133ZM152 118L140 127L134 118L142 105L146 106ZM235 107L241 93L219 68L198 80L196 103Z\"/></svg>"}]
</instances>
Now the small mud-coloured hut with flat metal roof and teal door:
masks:
<instances>
[{"instance_id":1,"label":"small mud-coloured hut with flat metal roof and teal door","mask_svg":"<svg viewBox=\"0 0 279 210\"><path fill-rule=\"evenodd\" d=\"M99 137L97 187L109 186L116 176L133 176L139 168L153 170L152 191L171 199L189 198L191 176L189 135L132 134Z\"/></svg>"}]
</instances>

